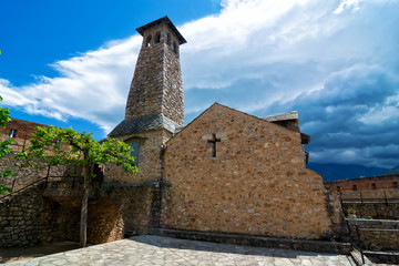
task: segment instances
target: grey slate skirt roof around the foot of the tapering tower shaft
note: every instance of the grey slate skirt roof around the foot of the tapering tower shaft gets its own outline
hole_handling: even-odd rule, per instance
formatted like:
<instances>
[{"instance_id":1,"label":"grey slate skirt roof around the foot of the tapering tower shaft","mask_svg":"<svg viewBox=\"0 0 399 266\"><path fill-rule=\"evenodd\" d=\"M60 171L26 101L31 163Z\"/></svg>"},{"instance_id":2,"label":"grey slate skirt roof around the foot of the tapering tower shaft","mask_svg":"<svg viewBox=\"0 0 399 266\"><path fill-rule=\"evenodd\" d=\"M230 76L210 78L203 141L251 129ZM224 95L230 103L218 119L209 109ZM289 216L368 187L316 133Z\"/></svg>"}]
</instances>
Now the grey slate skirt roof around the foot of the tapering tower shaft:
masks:
<instances>
[{"instance_id":1,"label":"grey slate skirt roof around the foot of the tapering tower shaft","mask_svg":"<svg viewBox=\"0 0 399 266\"><path fill-rule=\"evenodd\" d=\"M115 126L115 129L111 131L109 136L161 129L165 129L172 133L175 133L176 127L180 126L162 113L147 114L123 120L119 125Z\"/></svg>"}]
</instances>

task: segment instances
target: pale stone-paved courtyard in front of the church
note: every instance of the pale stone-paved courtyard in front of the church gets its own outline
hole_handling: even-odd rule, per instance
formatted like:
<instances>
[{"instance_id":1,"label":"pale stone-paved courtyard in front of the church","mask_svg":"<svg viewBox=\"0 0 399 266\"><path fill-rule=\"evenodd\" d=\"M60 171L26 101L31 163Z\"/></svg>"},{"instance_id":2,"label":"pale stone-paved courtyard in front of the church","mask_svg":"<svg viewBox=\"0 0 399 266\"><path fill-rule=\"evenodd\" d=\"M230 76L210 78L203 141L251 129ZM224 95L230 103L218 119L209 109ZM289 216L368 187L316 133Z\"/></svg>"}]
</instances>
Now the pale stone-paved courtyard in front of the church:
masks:
<instances>
[{"instance_id":1,"label":"pale stone-paved courtyard in front of the church","mask_svg":"<svg viewBox=\"0 0 399 266\"><path fill-rule=\"evenodd\" d=\"M4 265L350 265L345 255L137 236Z\"/></svg>"}]
</instances>

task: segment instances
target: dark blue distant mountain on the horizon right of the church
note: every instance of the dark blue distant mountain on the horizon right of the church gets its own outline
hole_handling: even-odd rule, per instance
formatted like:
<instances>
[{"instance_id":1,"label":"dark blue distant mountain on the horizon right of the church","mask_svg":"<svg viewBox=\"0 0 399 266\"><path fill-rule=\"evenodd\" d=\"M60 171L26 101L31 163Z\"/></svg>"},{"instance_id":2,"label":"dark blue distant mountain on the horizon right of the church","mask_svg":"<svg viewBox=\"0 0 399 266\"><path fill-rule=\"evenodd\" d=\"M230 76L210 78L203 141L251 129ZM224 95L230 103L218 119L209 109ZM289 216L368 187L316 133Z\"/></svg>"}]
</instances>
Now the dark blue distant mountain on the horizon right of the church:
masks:
<instances>
[{"instance_id":1,"label":"dark blue distant mountain on the horizon right of the church","mask_svg":"<svg viewBox=\"0 0 399 266\"><path fill-rule=\"evenodd\" d=\"M352 180L371 177L386 173L389 168L367 167L356 164L320 164L308 163L307 167L323 175L323 181Z\"/></svg>"}]
</instances>

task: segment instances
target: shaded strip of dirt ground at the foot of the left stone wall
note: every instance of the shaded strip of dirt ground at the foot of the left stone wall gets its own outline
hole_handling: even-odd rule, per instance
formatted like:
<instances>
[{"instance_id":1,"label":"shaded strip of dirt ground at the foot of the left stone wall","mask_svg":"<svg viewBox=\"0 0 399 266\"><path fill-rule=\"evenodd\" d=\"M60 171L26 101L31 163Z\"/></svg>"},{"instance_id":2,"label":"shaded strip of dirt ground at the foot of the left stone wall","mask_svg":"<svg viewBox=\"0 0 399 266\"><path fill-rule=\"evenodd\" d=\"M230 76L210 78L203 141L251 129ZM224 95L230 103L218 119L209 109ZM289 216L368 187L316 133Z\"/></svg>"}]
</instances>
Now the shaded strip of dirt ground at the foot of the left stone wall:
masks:
<instances>
[{"instance_id":1,"label":"shaded strip of dirt ground at the foot of the left stone wall","mask_svg":"<svg viewBox=\"0 0 399 266\"><path fill-rule=\"evenodd\" d=\"M41 257L44 255L62 253L76 248L79 248L79 243L75 242L54 242L47 245L38 245L31 247L0 248L0 264Z\"/></svg>"}]
</instances>

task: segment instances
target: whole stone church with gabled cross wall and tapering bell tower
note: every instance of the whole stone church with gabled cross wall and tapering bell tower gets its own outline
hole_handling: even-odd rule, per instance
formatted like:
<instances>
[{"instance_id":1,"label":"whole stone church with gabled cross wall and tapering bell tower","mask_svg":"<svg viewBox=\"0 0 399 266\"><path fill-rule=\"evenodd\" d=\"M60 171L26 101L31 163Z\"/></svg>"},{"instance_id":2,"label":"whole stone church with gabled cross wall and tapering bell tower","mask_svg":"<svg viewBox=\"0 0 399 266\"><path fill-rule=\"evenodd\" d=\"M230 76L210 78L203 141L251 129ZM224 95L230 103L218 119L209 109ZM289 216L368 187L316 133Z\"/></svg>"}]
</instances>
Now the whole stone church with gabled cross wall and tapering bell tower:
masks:
<instances>
[{"instance_id":1,"label":"whole stone church with gabled cross wall and tapering bell tower","mask_svg":"<svg viewBox=\"0 0 399 266\"><path fill-rule=\"evenodd\" d=\"M90 200L89 242L173 232L335 237L339 221L321 176L306 167L310 137L300 132L297 112L256 117L214 103L184 126L180 45L186 40L167 17L137 31L143 43L125 117L109 137L134 149L139 173L105 166L101 192ZM45 190L47 204L57 202L50 208L78 215L79 204ZM63 217L60 209L54 215ZM48 224L76 227L71 221Z\"/></svg>"}]
</instances>

